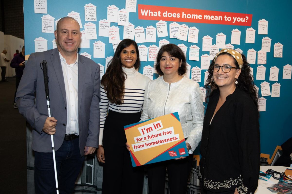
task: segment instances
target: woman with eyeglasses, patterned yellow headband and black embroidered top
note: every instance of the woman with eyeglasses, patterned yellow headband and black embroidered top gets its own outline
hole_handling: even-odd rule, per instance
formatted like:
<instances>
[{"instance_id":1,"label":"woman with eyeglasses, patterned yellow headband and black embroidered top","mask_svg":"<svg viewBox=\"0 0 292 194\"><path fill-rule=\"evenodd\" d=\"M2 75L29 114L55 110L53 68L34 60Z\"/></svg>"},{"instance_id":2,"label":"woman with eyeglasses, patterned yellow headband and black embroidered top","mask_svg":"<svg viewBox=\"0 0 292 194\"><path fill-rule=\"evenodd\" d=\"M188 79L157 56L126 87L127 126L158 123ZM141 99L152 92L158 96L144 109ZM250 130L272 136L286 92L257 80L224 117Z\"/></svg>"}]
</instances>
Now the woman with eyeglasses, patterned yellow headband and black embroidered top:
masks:
<instances>
[{"instance_id":1,"label":"woman with eyeglasses, patterned yellow headband and black embroidered top","mask_svg":"<svg viewBox=\"0 0 292 194\"><path fill-rule=\"evenodd\" d=\"M222 49L209 67L199 165L203 193L253 194L258 186L258 96L249 67L233 49Z\"/></svg>"}]
</instances>

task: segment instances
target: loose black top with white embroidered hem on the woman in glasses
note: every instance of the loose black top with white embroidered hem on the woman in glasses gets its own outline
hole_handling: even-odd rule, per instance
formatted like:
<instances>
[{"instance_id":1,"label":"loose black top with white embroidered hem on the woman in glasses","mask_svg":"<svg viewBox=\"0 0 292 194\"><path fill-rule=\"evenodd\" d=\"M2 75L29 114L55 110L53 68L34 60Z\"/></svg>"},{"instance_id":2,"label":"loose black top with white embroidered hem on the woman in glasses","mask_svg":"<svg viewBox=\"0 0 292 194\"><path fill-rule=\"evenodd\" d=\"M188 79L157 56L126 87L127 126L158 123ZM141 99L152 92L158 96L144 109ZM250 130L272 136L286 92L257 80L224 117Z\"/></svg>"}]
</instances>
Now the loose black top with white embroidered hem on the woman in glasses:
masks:
<instances>
[{"instance_id":1,"label":"loose black top with white embroidered hem on the woman in glasses","mask_svg":"<svg viewBox=\"0 0 292 194\"><path fill-rule=\"evenodd\" d=\"M260 132L258 111L251 97L236 88L215 114L219 89L209 98L201 140L199 177L214 193L252 194L258 186Z\"/></svg>"}]
</instances>

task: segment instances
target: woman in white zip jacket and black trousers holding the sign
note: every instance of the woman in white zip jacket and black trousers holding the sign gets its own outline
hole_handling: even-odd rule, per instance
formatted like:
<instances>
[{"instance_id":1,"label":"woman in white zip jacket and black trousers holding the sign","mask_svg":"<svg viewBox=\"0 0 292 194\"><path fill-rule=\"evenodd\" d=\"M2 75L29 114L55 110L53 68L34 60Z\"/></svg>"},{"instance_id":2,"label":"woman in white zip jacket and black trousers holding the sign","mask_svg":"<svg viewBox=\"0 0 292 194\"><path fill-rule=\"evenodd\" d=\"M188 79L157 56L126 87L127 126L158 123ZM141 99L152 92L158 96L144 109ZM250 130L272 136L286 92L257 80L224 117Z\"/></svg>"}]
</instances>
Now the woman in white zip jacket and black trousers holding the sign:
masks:
<instances>
[{"instance_id":1,"label":"woman in white zip jacket and black trousers holding the sign","mask_svg":"<svg viewBox=\"0 0 292 194\"><path fill-rule=\"evenodd\" d=\"M147 84L140 121L178 112L189 156L147 165L149 194L164 193L166 168L170 193L186 193L193 152L201 140L203 97L199 84L183 76L186 60L177 45L161 47L156 64L161 76Z\"/></svg>"}]
</instances>

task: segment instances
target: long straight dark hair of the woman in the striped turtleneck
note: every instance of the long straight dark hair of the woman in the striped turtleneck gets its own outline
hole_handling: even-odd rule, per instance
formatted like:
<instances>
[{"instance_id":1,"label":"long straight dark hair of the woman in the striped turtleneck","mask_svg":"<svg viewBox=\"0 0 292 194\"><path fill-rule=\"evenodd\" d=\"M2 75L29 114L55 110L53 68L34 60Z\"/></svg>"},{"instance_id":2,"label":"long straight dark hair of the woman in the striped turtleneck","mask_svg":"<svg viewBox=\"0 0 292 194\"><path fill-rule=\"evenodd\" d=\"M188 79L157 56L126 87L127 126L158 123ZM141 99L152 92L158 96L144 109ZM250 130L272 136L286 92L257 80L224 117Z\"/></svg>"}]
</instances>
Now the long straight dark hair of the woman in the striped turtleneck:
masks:
<instances>
[{"instance_id":1,"label":"long straight dark hair of the woman in the striped turtleneck","mask_svg":"<svg viewBox=\"0 0 292 194\"><path fill-rule=\"evenodd\" d=\"M124 48L129 47L130 45L135 46L137 54L137 60L134 67L137 69L140 66L140 56L137 43L131 39L124 39L119 43L116 52L114 53L114 57L110 60L107 71L101 79L101 84L107 92L107 98L110 102L115 104L122 104L124 101L125 80L127 75L122 69L120 53Z\"/></svg>"}]
</instances>

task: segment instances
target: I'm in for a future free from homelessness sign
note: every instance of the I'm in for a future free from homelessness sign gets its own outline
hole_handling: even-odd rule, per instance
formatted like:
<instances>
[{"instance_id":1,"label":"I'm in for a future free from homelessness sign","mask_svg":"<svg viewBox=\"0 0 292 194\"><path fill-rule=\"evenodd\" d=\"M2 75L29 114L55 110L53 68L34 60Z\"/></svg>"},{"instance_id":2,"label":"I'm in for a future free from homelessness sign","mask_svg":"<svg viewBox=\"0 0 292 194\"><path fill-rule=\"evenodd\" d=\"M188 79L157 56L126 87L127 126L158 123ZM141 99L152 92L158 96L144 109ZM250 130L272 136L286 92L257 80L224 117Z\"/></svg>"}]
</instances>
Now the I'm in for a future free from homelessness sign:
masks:
<instances>
[{"instance_id":1,"label":"I'm in for a future free from homelessness sign","mask_svg":"<svg viewBox=\"0 0 292 194\"><path fill-rule=\"evenodd\" d=\"M188 156L178 112L124 126L133 167Z\"/></svg>"}]
</instances>

